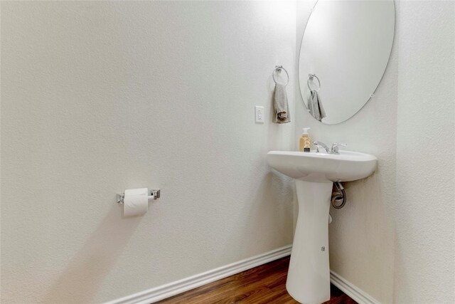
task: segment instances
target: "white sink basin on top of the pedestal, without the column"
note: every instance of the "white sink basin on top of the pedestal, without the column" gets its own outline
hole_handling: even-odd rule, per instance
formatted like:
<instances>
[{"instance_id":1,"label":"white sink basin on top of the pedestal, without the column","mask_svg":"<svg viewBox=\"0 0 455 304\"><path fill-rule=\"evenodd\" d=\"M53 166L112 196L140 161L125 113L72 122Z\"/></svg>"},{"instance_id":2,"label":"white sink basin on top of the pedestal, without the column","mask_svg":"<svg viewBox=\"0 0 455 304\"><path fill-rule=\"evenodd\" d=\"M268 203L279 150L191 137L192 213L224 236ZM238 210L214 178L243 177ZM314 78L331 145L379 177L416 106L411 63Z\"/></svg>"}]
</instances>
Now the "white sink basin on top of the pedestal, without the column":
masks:
<instances>
[{"instance_id":1,"label":"white sink basin on top of the pedestal, without the column","mask_svg":"<svg viewBox=\"0 0 455 304\"><path fill-rule=\"evenodd\" d=\"M376 169L373 155L340 151L340 154L270 151L267 162L277 171L308 182L350 182L370 176Z\"/></svg>"}]
</instances>

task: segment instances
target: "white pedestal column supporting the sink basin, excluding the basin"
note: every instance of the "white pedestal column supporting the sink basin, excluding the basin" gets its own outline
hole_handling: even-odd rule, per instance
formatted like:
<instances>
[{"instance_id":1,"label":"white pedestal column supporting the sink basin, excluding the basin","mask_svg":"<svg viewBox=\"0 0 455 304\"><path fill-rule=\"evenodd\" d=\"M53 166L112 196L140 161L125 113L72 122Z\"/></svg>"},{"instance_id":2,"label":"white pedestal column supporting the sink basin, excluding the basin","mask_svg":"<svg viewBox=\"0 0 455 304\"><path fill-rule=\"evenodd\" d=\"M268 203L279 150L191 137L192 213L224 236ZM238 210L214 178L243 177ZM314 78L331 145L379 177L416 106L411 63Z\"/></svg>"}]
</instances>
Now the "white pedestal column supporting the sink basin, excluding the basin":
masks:
<instances>
[{"instance_id":1,"label":"white pedestal column supporting the sink basin, excluding the basin","mask_svg":"<svg viewBox=\"0 0 455 304\"><path fill-rule=\"evenodd\" d=\"M301 303L330 300L328 209L332 182L296 179L299 215L292 245L286 289Z\"/></svg>"}]
</instances>

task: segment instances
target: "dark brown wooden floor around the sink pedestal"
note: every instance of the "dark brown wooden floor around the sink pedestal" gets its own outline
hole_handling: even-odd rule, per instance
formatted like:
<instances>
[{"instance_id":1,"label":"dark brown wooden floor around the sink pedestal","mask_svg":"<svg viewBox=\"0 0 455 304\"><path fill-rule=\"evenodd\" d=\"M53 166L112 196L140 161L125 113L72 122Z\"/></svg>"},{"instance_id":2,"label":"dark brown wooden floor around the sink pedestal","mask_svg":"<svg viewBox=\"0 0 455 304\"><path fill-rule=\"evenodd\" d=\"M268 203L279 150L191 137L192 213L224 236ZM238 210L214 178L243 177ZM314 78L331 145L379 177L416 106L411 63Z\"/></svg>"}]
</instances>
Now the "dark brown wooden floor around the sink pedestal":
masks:
<instances>
[{"instance_id":1,"label":"dark brown wooden floor around the sink pedestal","mask_svg":"<svg viewBox=\"0 0 455 304\"><path fill-rule=\"evenodd\" d=\"M298 304L286 290L289 257L161 300L159 304ZM331 285L331 304L357 304Z\"/></svg>"}]
</instances>

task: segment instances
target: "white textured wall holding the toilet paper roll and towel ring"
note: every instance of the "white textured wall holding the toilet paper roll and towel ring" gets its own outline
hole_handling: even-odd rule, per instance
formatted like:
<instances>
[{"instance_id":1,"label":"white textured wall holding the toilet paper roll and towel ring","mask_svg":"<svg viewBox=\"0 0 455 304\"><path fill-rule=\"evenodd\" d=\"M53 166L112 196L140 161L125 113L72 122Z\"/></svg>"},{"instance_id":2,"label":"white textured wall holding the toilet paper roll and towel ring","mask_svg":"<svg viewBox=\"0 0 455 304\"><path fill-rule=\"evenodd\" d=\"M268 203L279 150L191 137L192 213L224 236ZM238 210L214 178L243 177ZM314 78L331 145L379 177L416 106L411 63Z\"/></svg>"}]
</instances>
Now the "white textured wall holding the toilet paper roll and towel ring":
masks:
<instances>
[{"instance_id":1,"label":"white textured wall holding the toilet paper roll and towel ring","mask_svg":"<svg viewBox=\"0 0 455 304\"><path fill-rule=\"evenodd\" d=\"M1 3L1 302L88 303L291 243L294 2ZM292 104L294 88L289 85ZM159 187L139 219L115 194Z\"/></svg>"}]
</instances>

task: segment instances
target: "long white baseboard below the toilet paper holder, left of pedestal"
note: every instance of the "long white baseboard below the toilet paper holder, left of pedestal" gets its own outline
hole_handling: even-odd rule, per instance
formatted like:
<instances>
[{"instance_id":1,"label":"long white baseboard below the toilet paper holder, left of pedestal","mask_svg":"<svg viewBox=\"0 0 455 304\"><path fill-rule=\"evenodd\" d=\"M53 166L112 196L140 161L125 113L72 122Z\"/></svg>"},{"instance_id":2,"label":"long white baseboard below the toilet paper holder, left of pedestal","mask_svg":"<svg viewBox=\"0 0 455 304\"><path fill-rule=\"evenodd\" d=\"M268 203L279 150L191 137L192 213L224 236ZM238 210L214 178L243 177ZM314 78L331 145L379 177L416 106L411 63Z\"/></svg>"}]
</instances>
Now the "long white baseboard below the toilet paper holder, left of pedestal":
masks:
<instances>
[{"instance_id":1,"label":"long white baseboard below the toilet paper holder, left of pedestal","mask_svg":"<svg viewBox=\"0 0 455 304\"><path fill-rule=\"evenodd\" d=\"M271 261L289 256L291 254L292 246L284 246L282 248L269 251L267 253L259 254L259 256L253 256L252 258L245 258L245 260L238 261L220 268L215 268L205 273L199 273L196 276L189 278L183 278L179 281L161 285L149 290L144 290L133 295L127 295L124 298L112 300L106 304L149 304L155 303L159 300L169 298L173 295L178 295L185 291L198 288L208 283L218 281L222 278L241 273L251 268L255 268L259 265L269 263Z\"/></svg>"}]
</instances>

